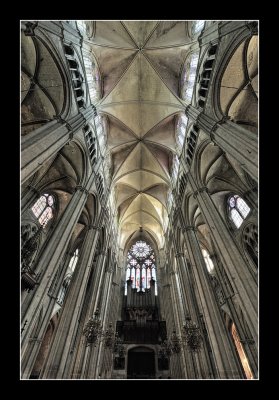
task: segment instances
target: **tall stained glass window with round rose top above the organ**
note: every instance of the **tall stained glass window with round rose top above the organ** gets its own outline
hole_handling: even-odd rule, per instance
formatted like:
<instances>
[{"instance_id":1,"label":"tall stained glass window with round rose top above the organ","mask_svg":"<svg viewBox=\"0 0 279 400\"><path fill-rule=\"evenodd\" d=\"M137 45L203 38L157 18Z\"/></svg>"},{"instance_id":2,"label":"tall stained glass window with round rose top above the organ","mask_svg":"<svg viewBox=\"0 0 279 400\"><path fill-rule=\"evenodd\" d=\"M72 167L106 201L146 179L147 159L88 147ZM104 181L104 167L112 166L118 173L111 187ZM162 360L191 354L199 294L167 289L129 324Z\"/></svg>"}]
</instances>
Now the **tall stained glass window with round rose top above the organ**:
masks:
<instances>
[{"instance_id":1,"label":"tall stained glass window with round rose top above the organ","mask_svg":"<svg viewBox=\"0 0 279 400\"><path fill-rule=\"evenodd\" d=\"M125 295L127 294L127 280L132 281L132 288L145 292L150 288L150 281L155 281L155 295L157 295L155 255L152 247L138 240L127 255Z\"/></svg>"}]
</instances>

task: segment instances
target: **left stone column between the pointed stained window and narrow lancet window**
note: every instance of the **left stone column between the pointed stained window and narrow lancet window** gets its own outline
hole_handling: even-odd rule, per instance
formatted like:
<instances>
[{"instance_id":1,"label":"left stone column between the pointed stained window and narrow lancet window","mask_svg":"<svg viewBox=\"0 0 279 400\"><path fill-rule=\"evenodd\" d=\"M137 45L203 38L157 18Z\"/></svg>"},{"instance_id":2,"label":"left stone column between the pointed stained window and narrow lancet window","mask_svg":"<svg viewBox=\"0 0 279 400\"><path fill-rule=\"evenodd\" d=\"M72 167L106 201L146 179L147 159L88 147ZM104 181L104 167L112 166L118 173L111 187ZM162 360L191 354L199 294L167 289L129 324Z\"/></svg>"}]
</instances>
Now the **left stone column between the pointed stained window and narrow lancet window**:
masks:
<instances>
[{"instance_id":1,"label":"left stone column between the pointed stained window and narrow lancet window","mask_svg":"<svg viewBox=\"0 0 279 400\"><path fill-rule=\"evenodd\" d=\"M90 185L91 182L87 186L90 187ZM41 280L33 295L31 303L26 299L27 304L29 303L28 308L26 309L23 304L21 315L22 320L27 320L26 329L22 334L22 373L24 378L28 378L31 373L40 345L38 341L33 344L29 341L32 336L32 330L34 330L34 326L39 317L39 313L42 310L42 305L44 304L45 299L48 299L47 294L52 282L52 277L54 277L56 270L59 267L59 261L67 249L71 234L86 203L87 195L88 191L86 188L77 186L76 192L72 196L61 219L58 221L55 232L47 242L36 265L36 270L41 272ZM39 339L43 339L44 337L45 330L47 329L50 320L49 313L51 314L51 312L52 310L47 312L41 318L41 328L38 332Z\"/></svg>"}]
</instances>

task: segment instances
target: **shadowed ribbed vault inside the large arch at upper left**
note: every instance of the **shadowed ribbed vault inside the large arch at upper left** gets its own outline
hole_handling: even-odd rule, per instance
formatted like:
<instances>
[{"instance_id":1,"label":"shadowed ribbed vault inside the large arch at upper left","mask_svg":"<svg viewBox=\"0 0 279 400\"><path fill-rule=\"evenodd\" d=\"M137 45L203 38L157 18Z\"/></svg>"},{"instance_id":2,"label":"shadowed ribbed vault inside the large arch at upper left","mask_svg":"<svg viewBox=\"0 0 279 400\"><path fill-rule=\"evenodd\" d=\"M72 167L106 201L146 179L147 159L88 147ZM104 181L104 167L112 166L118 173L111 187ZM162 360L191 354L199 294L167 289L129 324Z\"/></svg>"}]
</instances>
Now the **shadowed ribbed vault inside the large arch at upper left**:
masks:
<instances>
[{"instance_id":1,"label":"shadowed ribbed vault inside the large arch at upper left","mask_svg":"<svg viewBox=\"0 0 279 400\"><path fill-rule=\"evenodd\" d=\"M48 78L48 77L51 77ZM65 111L61 65L37 36L21 35L21 135L40 128Z\"/></svg>"}]
</instances>

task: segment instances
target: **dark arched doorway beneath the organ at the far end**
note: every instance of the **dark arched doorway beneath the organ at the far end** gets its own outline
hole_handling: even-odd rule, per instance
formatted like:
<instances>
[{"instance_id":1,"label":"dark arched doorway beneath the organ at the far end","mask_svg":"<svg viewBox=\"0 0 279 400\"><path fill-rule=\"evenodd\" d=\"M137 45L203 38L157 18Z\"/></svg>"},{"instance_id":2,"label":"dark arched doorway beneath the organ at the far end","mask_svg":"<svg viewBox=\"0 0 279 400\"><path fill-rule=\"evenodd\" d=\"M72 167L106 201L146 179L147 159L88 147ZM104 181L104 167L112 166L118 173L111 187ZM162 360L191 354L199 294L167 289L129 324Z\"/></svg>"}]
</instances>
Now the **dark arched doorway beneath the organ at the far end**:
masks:
<instances>
[{"instance_id":1,"label":"dark arched doorway beneath the organ at the far end","mask_svg":"<svg viewBox=\"0 0 279 400\"><path fill-rule=\"evenodd\" d=\"M154 379L155 353L148 347L134 347L128 351L127 379Z\"/></svg>"}]
</instances>

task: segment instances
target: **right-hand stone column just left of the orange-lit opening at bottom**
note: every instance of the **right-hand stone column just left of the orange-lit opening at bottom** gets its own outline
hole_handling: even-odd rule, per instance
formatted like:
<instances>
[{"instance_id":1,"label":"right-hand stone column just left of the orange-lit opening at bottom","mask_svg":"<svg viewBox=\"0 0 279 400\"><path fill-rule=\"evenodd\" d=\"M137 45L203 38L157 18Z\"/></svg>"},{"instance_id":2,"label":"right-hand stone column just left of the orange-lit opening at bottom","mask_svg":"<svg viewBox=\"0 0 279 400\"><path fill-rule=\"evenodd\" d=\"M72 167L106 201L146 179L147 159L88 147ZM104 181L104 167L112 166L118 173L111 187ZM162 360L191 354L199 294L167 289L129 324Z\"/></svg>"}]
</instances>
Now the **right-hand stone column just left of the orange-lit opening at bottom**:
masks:
<instances>
[{"instance_id":1,"label":"right-hand stone column just left of the orange-lit opening at bottom","mask_svg":"<svg viewBox=\"0 0 279 400\"><path fill-rule=\"evenodd\" d=\"M190 226L186 227L185 237L189 259L192 265L193 277L200 294L202 314L204 315L208 327L209 342L211 342L211 347L213 349L218 376L221 379L241 378L238 365L235 362L234 354L231 349L231 343L221 318L220 310L208 281L208 272L196 236L196 229ZM199 323L199 325L201 324Z\"/></svg>"}]
</instances>

